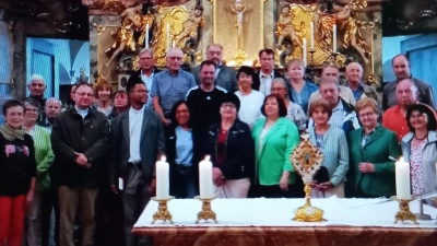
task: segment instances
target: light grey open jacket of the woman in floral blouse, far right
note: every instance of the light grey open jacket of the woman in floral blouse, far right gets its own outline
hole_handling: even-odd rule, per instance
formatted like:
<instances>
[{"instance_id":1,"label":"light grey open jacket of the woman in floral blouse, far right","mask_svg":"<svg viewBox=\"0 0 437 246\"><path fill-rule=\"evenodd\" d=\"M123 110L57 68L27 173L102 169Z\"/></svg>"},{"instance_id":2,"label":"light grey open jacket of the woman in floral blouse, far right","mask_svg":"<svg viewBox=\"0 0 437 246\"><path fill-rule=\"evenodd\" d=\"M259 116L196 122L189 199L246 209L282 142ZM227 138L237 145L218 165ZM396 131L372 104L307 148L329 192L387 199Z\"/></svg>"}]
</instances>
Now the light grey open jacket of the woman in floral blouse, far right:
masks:
<instances>
[{"instance_id":1,"label":"light grey open jacket of the woman in floral blouse, far right","mask_svg":"<svg viewBox=\"0 0 437 246\"><path fill-rule=\"evenodd\" d=\"M410 132L402 138L401 147L403 159L409 162L411 141L413 140L414 133ZM436 162L437 162L437 132L428 132L428 142L425 144L422 151L422 171L424 175L424 188L425 192L429 192L437 189L436 181ZM429 203L428 203L429 204Z\"/></svg>"}]
</instances>

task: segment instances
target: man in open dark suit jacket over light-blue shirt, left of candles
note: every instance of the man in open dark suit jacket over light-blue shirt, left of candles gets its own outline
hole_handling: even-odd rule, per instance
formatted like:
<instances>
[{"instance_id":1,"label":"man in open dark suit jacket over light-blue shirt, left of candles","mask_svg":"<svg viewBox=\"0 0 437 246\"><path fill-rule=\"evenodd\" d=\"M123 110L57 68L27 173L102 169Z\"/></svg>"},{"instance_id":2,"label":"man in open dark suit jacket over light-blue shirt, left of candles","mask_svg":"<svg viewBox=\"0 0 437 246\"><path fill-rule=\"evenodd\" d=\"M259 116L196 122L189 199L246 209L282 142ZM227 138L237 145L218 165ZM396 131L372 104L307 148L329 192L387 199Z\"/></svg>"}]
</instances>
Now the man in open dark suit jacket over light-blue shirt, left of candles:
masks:
<instances>
[{"instance_id":1,"label":"man in open dark suit jacket over light-blue shirt, left of candles","mask_svg":"<svg viewBox=\"0 0 437 246\"><path fill-rule=\"evenodd\" d=\"M150 237L135 238L131 231L155 188L155 163L165 152L164 127L160 116L145 106L144 82L134 80L127 91L131 108L111 122L110 184L116 192L118 178L123 177L125 245L151 245Z\"/></svg>"}]
</instances>

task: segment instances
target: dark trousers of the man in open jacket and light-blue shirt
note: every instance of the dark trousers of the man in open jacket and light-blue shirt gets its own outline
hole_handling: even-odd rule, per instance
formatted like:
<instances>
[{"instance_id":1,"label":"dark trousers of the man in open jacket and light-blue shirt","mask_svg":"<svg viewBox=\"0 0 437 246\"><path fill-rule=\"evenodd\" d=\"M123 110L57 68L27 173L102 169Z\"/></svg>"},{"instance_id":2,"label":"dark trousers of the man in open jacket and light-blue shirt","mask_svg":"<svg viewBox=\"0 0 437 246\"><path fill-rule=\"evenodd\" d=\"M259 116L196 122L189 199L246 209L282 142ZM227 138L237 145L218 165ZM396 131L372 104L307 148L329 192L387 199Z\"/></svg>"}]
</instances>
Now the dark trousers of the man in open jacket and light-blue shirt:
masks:
<instances>
[{"instance_id":1,"label":"dark trousers of the man in open jacket and light-blue shirt","mask_svg":"<svg viewBox=\"0 0 437 246\"><path fill-rule=\"evenodd\" d=\"M152 245L152 237L132 234L134 223L150 201L151 194L149 189L150 183L144 180L143 171L128 164L125 175L125 190L122 192L126 246Z\"/></svg>"}]
</instances>

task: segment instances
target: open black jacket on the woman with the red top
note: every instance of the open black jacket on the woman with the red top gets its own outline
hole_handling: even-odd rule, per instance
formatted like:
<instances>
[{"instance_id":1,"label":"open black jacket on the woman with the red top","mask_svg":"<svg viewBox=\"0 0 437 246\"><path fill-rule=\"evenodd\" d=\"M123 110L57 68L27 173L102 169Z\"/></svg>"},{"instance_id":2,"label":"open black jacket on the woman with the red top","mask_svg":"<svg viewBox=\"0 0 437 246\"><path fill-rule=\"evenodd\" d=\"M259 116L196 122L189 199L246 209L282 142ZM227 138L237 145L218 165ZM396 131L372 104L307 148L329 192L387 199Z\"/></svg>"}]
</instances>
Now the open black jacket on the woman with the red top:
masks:
<instances>
[{"instance_id":1,"label":"open black jacket on the woman with the red top","mask_svg":"<svg viewBox=\"0 0 437 246\"><path fill-rule=\"evenodd\" d=\"M216 165L216 142L220 125L209 128L202 144L202 156L211 155L214 167L218 167L225 179L252 178L255 173L255 143L247 124L236 119L226 139L226 157L222 165Z\"/></svg>"}]
</instances>

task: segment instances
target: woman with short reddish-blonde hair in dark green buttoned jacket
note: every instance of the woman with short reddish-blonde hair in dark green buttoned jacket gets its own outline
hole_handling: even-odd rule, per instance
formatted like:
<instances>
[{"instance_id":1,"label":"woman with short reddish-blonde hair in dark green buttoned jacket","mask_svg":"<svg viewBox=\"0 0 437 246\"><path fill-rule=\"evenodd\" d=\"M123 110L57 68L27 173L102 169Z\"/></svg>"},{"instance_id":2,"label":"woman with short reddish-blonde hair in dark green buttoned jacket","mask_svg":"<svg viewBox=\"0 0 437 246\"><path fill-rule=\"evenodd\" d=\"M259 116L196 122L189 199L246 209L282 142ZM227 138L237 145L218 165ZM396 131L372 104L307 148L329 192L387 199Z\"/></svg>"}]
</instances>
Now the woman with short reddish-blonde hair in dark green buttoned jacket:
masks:
<instances>
[{"instance_id":1,"label":"woman with short reddish-blonde hair in dark green buttoned jacket","mask_svg":"<svg viewBox=\"0 0 437 246\"><path fill-rule=\"evenodd\" d=\"M347 136L350 169L346 196L357 198L390 197L395 194L394 161L401 148L394 132L378 125L379 106L373 98L356 104L363 128Z\"/></svg>"}]
</instances>

